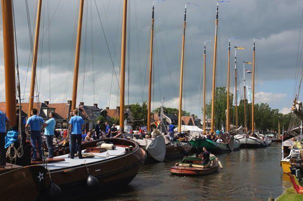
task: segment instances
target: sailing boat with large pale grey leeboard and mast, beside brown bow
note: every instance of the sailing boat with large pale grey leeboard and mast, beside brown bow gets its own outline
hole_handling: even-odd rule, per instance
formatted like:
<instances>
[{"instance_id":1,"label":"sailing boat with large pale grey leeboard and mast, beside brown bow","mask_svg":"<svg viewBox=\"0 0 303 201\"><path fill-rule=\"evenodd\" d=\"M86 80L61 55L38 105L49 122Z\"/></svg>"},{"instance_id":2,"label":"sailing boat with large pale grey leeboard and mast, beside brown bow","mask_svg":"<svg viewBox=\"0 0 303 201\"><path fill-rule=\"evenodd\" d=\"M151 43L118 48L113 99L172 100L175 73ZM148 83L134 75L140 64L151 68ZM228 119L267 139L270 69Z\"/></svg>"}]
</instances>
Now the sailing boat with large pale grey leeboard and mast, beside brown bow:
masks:
<instances>
[{"instance_id":1,"label":"sailing boat with large pale grey leeboard and mast, beside brown bow","mask_svg":"<svg viewBox=\"0 0 303 201\"><path fill-rule=\"evenodd\" d=\"M149 85L148 85L148 108L147 108L147 131L150 132L150 108L152 97L152 73L153 73L153 43L154 43L154 16L155 16L155 2L153 2L152 9L152 24L150 29L150 52L149 52ZM186 7L184 17L184 35L185 35L185 23L186 23ZM184 37L183 37L184 39ZM184 43L183 43L184 49ZM183 59L182 59L183 61ZM183 64L181 64L183 67ZM181 67L181 68L182 68ZM162 101L163 103L163 101ZM163 104L162 110L163 112ZM163 115L163 114L161 114ZM181 117L181 116L180 116ZM162 123L162 122L161 122ZM161 124L159 124L161 126ZM158 125L158 126L159 126ZM158 127L157 127L158 128ZM152 132L152 136L157 136L153 139L135 139L141 148L147 152L146 163L161 162L164 159L171 160L183 157L191 150L191 145L185 142L170 142L166 136L164 136L158 129Z\"/></svg>"}]
</instances>

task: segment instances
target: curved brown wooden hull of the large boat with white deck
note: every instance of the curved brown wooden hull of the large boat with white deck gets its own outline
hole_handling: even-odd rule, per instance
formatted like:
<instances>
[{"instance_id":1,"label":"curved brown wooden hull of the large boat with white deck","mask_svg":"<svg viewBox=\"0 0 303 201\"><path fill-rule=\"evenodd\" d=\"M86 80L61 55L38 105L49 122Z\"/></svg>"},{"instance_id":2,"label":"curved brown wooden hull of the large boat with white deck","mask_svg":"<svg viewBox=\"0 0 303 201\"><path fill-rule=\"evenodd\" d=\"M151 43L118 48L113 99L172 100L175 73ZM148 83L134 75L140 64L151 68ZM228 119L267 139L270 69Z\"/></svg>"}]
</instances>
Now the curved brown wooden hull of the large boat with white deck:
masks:
<instances>
[{"instance_id":1,"label":"curved brown wooden hull of the large boat with white deck","mask_svg":"<svg viewBox=\"0 0 303 201\"><path fill-rule=\"evenodd\" d=\"M91 175L99 181L95 189L87 186L87 167L86 165L74 166L72 168L56 169L50 172L52 181L62 190L61 200L71 200L74 198L87 197L101 193L105 190L127 185L142 167L146 153L136 143L124 139L103 139L112 142L116 146L133 146L133 151L120 156L100 160L87 165ZM83 144L86 147L94 147L98 141ZM75 159L77 160L77 159ZM46 185L50 184L49 175ZM47 188L40 193L38 200L48 200Z\"/></svg>"}]
</instances>

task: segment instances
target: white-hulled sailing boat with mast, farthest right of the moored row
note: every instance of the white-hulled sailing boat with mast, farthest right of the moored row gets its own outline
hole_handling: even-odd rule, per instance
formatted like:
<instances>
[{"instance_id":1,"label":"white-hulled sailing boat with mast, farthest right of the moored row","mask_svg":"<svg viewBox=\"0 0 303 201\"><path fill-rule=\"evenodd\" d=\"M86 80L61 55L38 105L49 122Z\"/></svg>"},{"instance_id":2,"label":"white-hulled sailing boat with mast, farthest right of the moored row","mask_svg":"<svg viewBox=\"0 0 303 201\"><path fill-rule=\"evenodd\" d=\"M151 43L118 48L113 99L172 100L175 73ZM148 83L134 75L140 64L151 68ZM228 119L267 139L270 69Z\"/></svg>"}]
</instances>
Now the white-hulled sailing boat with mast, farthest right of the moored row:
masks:
<instances>
[{"instance_id":1,"label":"white-hulled sailing boat with mast, farthest right of the moored row","mask_svg":"<svg viewBox=\"0 0 303 201\"><path fill-rule=\"evenodd\" d=\"M257 148L257 147L267 147L271 145L271 139L267 136L263 137L255 132L255 120L254 120L254 104L255 104L255 48L256 48L256 39L254 39L253 44L253 88L252 88L252 134L242 134L236 135L235 138L240 140L241 147L245 148Z\"/></svg>"}]
</instances>

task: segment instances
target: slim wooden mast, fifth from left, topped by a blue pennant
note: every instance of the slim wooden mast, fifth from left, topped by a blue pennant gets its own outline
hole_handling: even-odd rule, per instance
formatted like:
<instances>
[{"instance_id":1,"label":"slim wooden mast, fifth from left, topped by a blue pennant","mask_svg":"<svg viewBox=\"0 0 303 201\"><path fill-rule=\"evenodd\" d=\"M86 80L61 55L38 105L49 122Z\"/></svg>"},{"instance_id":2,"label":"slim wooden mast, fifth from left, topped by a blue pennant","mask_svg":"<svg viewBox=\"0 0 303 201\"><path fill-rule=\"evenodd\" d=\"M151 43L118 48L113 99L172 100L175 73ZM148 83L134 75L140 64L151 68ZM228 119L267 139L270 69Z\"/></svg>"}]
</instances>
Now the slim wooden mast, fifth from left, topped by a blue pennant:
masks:
<instances>
[{"instance_id":1,"label":"slim wooden mast, fifth from left, topped by a blue pennant","mask_svg":"<svg viewBox=\"0 0 303 201\"><path fill-rule=\"evenodd\" d=\"M155 6L153 5L152 27L150 28L147 132L150 132L150 107L152 106L151 99L152 99L152 76L153 76L154 14L155 14Z\"/></svg>"}]
</instances>

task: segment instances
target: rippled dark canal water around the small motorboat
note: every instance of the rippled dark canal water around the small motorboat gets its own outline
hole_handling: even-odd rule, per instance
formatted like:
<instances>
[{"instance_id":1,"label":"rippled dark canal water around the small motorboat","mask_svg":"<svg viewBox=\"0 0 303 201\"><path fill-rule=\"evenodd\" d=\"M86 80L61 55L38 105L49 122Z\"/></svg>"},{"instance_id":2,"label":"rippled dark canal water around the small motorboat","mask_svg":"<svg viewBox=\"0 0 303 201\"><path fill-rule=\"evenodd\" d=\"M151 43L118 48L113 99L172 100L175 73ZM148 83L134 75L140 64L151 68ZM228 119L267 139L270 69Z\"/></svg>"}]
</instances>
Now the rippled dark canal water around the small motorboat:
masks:
<instances>
[{"instance_id":1,"label":"rippled dark canal water around the small motorboat","mask_svg":"<svg viewBox=\"0 0 303 201\"><path fill-rule=\"evenodd\" d=\"M290 180L280 166L281 143L217 155L223 165L206 176L173 176L180 161L144 165L123 189L86 200L268 200L279 196Z\"/></svg>"}]
</instances>

